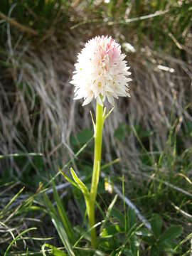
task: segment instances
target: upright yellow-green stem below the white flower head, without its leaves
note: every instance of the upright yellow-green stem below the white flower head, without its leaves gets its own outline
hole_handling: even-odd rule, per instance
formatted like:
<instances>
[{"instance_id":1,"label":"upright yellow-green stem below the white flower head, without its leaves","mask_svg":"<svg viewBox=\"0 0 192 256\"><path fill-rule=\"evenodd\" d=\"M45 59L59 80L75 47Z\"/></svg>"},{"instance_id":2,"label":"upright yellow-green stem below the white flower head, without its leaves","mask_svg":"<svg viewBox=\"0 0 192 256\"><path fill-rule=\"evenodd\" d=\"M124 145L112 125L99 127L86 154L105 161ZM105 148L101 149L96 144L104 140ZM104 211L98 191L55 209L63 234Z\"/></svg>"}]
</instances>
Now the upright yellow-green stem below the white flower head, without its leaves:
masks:
<instances>
[{"instance_id":1,"label":"upright yellow-green stem below the white flower head, without its leaves","mask_svg":"<svg viewBox=\"0 0 192 256\"><path fill-rule=\"evenodd\" d=\"M92 170L92 183L90 190L90 207L88 218L91 228L92 247L97 246L96 230L92 228L95 225L95 200L97 196L97 186L100 178L101 152L102 152L102 128L104 119L102 117L103 107L97 103L96 124L95 124L95 149L94 149L94 164Z\"/></svg>"}]
</instances>

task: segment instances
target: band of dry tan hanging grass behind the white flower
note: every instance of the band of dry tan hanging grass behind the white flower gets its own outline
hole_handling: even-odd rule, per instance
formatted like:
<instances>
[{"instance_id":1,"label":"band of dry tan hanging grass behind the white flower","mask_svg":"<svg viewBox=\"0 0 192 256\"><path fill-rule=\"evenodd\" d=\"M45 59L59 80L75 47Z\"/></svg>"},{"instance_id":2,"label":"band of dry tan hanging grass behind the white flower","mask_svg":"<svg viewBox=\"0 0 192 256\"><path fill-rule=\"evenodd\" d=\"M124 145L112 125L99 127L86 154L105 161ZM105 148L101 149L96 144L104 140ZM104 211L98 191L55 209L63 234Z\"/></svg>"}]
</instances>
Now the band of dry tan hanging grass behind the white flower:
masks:
<instances>
[{"instance_id":1,"label":"band of dry tan hanging grass behind the white flower","mask_svg":"<svg viewBox=\"0 0 192 256\"><path fill-rule=\"evenodd\" d=\"M117 40L121 38L117 28L111 32ZM100 29L99 33L105 33L105 29ZM0 152L4 155L41 152L45 166L57 170L61 162L73 156L70 134L91 126L90 106L81 108L80 102L73 100L69 81L78 51L83 42L94 35L65 32L63 40L52 36L49 41L35 46L21 36L12 36L8 25L7 36L6 65L9 68L1 72L0 78ZM190 53L185 54L186 58L191 58ZM127 160L130 170L137 172L139 152L134 132L127 141L118 142L114 139L114 129L120 122L130 126L139 124L155 134L155 140L149 139L149 150L163 150L171 126L171 112L174 119L179 118L180 127L185 127L186 120L191 122L191 105L188 104L191 104L192 68L183 60L154 51L149 42L135 53L127 53L127 60L132 68L132 97L120 99L107 121L106 159L115 151L118 157ZM161 70L159 65L169 69ZM184 144L188 146L188 141ZM4 171L9 168L11 174L16 170L18 177L28 164L38 173L30 156L22 169L13 158L0 164Z\"/></svg>"}]
</instances>

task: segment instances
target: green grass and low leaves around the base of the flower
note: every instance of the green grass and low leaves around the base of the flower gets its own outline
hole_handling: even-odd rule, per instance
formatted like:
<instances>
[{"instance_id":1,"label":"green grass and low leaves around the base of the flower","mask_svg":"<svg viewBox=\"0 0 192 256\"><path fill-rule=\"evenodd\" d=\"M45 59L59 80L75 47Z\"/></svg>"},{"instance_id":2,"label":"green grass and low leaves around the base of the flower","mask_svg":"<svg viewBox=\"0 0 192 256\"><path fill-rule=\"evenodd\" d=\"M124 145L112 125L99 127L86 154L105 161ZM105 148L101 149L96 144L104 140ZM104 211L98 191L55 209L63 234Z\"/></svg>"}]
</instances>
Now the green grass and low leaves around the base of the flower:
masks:
<instances>
[{"instance_id":1,"label":"green grass and low leaves around the base of the flower","mask_svg":"<svg viewBox=\"0 0 192 256\"><path fill-rule=\"evenodd\" d=\"M141 181L138 183L138 178L129 175L129 169L126 166L124 166L124 170L127 173L122 180L120 174L118 174L119 164L114 166L117 171L116 178L111 177L114 186L119 186L124 196L128 196L134 205L142 210L142 214L151 223L151 231L147 230L143 223L139 222L134 210L127 207L124 201L118 198L117 195L115 196L114 192L110 194L105 190L105 183L102 181L99 188L99 196L97 197L96 226L99 240L97 250L94 252L90 246L90 229L85 221L85 206L82 207L82 204L84 205L85 203L82 194L79 193L75 186L73 189L68 188L68 195L63 198L64 200L61 199L55 186L57 180L55 180L52 182L53 196L50 198L46 195L48 190L44 190L43 186L40 186L36 193L31 193L31 196L25 193L27 198L20 199L21 203L18 206L11 207L23 193L22 188L11 201L5 204L0 214L1 223L4 223L3 226L5 227L8 216L11 216L8 223L12 224L14 218L26 218L27 220L28 216L31 216L31 212L33 212L35 220L36 214L38 214L38 219L43 225L43 233L41 225L36 225L35 221L33 222L33 227L36 227L39 240L48 239L49 242L38 241L37 243L35 235L31 236L29 240L23 238L25 233L31 233L35 228L23 229L22 227L18 233L18 227L16 226L13 234L9 232L9 229L7 231L4 230L4 235L10 233L10 238L6 242L7 245L4 244L6 250L1 251L1 253L4 252L4 255L6 255L6 252L10 251L10 255L12 253L24 254L26 251L22 249L23 244L20 242L22 237L23 240L26 239L28 255L33 255L33 253L36 253L36 255L38 253L39 255L84 255L85 252L86 255L94 255L94 253L95 255L174 255L175 253L176 255L190 255L188 248L191 239L190 213L192 194L190 193L191 181L187 176L188 171L191 169L191 161L189 160L191 149L181 152L180 155L177 153L176 122L174 124L170 130L166 148L161 154L154 155L149 154L149 151L145 149L144 144L142 144L144 137L139 137L139 134L134 129L139 144L142 144L140 149L142 160L140 167L141 171L144 172L142 183ZM122 140L117 136L117 132L115 133L116 137ZM81 134L83 133L81 132ZM86 136L87 134L85 134ZM83 141L82 137L81 140ZM144 142L146 143L146 140ZM80 151L80 159L84 159L84 161L76 161L76 164L82 169L81 174L87 176L85 182L89 187L89 175L86 173L86 168L85 172L83 170L87 149L85 148L82 151L81 148ZM106 175L108 173L107 170L110 171L110 166L112 165L110 164L105 168ZM67 166L63 171L66 168ZM132 180L130 181L129 178L132 178ZM9 186L11 185L8 184L6 189L9 189ZM47 188L51 188L51 186L48 185ZM181 190L176 190L177 188ZM4 194L5 192L3 191L2 193ZM73 196L73 199L71 196ZM70 200L75 202L73 208L68 209L67 198L71 198ZM109 201L111 201L110 204ZM75 222L70 217L69 212L71 210L74 213L78 213ZM52 220L56 231L54 238L53 232L50 235L49 229L46 228L46 223L50 223L50 220ZM73 223L73 227L70 223ZM46 237L42 238L43 234ZM32 241L36 245L35 247L33 246L33 250L31 250L30 245ZM15 242L17 243L15 244ZM61 244L63 247L60 247Z\"/></svg>"}]
</instances>

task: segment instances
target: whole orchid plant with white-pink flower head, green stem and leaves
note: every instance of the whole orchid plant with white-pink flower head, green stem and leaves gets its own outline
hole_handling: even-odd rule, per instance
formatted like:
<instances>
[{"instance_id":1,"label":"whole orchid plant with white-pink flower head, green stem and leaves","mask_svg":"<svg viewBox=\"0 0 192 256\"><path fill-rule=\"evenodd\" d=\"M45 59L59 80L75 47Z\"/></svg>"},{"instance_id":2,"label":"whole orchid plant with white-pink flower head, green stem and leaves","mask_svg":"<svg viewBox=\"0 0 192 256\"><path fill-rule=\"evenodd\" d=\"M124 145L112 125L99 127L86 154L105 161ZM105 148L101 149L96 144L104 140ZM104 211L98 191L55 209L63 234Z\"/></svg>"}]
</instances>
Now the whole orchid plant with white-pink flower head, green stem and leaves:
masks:
<instances>
[{"instance_id":1,"label":"whole orchid plant with white-pink flower head, green stem and leaves","mask_svg":"<svg viewBox=\"0 0 192 256\"><path fill-rule=\"evenodd\" d=\"M126 55L122 54L121 46L111 37L96 36L85 44L85 47L78 54L78 63L75 64L75 71L71 83L75 85L75 100L84 100L82 106L92 100L96 100L96 122L92 114L94 127L95 152L92 170L92 183L90 191L75 174L71 168L71 174L76 186L80 188L85 196L87 216L90 223L92 246L96 247L95 231L95 200L97 186L100 179L100 164L102 153L102 129L105 119L112 110L106 113L105 101L108 100L114 106L114 98L129 96L128 82L131 73L128 71ZM65 176L68 179L68 177Z\"/></svg>"}]
</instances>

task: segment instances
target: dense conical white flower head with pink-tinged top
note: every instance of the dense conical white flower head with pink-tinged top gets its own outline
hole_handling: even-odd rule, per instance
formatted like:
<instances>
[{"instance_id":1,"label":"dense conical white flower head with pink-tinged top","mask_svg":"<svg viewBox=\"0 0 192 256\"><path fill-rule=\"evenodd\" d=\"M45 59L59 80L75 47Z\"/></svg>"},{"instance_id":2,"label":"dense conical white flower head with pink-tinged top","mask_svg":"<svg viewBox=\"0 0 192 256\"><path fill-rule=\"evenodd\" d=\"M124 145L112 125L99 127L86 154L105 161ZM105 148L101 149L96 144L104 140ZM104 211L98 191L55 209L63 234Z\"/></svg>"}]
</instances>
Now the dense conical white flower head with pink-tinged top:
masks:
<instances>
[{"instance_id":1,"label":"dense conical white flower head with pink-tinged top","mask_svg":"<svg viewBox=\"0 0 192 256\"><path fill-rule=\"evenodd\" d=\"M96 36L85 43L78 54L78 63L71 83L75 85L75 100L84 99L87 105L94 98L102 105L107 99L114 105L114 98L130 96L126 55L112 37Z\"/></svg>"}]
</instances>

